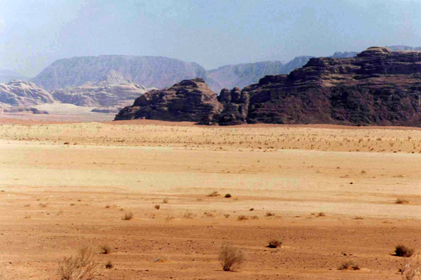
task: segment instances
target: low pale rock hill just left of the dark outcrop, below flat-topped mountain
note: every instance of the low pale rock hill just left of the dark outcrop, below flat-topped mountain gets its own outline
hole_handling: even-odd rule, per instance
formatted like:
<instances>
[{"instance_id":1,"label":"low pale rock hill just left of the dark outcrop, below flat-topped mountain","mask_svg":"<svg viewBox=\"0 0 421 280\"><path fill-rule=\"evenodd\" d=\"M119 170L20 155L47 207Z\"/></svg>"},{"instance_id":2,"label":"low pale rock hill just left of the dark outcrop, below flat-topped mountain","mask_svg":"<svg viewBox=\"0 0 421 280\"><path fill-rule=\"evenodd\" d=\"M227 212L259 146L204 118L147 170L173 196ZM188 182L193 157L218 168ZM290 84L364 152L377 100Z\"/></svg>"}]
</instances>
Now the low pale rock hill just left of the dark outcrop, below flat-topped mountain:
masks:
<instances>
[{"instance_id":1,"label":"low pale rock hill just left of the dark outcrop, below flat-topped mountain","mask_svg":"<svg viewBox=\"0 0 421 280\"><path fill-rule=\"evenodd\" d=\"M51 91L51 95L61 103L84 107L124 107L127 102L133 103L133 100L146 91L148 90L143 85L136 83L113 84L102 81L56 89Z\"/></svg>"}]
</instances>

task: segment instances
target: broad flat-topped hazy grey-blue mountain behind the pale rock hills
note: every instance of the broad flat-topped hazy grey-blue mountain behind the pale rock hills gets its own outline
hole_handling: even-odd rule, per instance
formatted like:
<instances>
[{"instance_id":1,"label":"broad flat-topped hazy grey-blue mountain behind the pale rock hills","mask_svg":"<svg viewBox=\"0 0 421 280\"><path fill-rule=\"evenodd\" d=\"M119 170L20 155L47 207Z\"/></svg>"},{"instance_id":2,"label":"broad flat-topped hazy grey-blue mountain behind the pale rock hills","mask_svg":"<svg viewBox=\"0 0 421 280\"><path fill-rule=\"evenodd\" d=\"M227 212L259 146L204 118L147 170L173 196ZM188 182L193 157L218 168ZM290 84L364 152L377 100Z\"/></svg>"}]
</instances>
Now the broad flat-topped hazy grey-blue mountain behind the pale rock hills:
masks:
<instances>
[{"instance_id":1,"label":"broad flat-topped hazy grey-blue mountain behind the pale rock hills","mask_svg":"<svg viewBox=\"0 0 421 280\"><path fill-rule=\"evenodd\" d=\"M197 63L163 56L82 56L54 61L31 81L51 91L87 82L128 83L166 88L188 78L206 78Z\"/></svg>"}]
</instances>

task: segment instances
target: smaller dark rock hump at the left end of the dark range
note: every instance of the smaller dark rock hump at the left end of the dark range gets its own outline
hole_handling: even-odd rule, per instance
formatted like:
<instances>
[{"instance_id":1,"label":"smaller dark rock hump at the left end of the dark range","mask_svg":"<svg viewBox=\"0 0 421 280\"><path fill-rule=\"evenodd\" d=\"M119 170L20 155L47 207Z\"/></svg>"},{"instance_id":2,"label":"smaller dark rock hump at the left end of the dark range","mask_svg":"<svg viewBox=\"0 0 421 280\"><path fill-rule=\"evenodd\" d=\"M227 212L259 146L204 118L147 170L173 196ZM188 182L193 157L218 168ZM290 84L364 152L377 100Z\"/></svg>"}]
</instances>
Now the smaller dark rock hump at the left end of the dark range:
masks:
<instances>
[{"instance_id":1,"label":"smaller dark rock hump at the left end of the dark range","mask_svg":"<svg viewBox=\"0 0 421 280\"><path fill-rule=\"evenodd\" d=\"M137 98L133 106L123 108L116 120L146 118L206 122L222 106L216 93L208 88L202 78L184 80L165 90L151 90Z\"/></svg>"}]
</instances>

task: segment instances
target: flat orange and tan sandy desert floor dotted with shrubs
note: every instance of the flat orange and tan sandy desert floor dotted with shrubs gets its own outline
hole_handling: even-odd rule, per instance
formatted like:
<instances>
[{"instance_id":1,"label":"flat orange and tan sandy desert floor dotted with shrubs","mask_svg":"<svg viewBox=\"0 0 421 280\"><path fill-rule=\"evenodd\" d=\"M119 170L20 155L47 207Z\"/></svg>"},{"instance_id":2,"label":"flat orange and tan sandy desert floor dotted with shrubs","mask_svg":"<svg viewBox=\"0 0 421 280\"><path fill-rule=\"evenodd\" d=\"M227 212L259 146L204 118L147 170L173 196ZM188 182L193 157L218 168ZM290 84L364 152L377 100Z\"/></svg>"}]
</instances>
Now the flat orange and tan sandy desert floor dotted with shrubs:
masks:
<instances>
[{"instance_id":1,"label":"flat orange and tan sandy desert floor dotted with shrubs","mask_svg":"<svg viewBox=\"0 0 421 280\"><path fill-rule=\"evenodd\" d=\"M59 279L89 245L96 279L402 279L395 246L421 249L420 170L412 128L5 118L0 272ZM247 256L237 271L218 262L226 242Z\"/></svg>"}]
</instances>

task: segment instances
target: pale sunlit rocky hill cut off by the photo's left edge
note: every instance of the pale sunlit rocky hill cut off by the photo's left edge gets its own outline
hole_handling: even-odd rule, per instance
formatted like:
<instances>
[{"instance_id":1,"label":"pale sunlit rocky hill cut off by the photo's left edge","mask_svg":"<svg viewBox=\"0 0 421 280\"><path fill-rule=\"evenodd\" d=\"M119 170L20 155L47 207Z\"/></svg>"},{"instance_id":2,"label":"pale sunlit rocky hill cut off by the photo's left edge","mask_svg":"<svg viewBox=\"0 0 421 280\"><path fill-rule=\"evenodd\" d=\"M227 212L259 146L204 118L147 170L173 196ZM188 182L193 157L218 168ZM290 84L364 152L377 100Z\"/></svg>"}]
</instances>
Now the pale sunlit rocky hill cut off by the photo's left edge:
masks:
<instances>
[{"instance_id":1,"label":"pale sunlit rocky hill cut off by the photo's left edge","mask_svg":"<svg viewBox=\"0 0 421 280\"><path fill-rule=\"evenodd\" d=\"M31 106L54 103L54 98L34 83L16 80L6 84L0 83L0 103L13 106Z\"/></svg>"}]
</instances>

